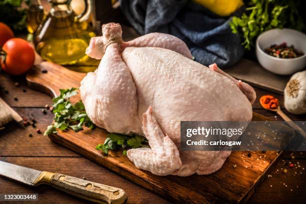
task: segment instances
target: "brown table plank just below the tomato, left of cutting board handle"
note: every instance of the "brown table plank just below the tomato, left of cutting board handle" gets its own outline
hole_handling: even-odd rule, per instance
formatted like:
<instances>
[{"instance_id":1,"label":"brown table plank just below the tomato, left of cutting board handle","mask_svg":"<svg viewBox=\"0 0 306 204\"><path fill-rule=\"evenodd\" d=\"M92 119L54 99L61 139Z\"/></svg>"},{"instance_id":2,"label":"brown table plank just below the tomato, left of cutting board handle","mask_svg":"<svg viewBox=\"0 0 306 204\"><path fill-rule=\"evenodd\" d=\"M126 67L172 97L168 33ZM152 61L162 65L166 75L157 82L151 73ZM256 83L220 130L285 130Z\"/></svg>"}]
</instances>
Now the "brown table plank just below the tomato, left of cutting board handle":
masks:
<instances>
[{"instance_id":1,"label":"brown table plank just below the tomato, left of cutting board handle","mask_svg":"<svg viewBox=\"0 0 306 204\"><path fill-rule=\"evenodd\" d=\"M14 83L18 82L19 87ZM4 89L8 90L8 94ZM26 92L23 92L25 89ZM14 100L14 96L18 100ZM0 73L0 97L7 104L13 107L43 107L45 104L51 104L51 97L41 92L30 89L26 85L26 80L23 76L9 76L8 74Z\"/></svg>"}]
</instances>

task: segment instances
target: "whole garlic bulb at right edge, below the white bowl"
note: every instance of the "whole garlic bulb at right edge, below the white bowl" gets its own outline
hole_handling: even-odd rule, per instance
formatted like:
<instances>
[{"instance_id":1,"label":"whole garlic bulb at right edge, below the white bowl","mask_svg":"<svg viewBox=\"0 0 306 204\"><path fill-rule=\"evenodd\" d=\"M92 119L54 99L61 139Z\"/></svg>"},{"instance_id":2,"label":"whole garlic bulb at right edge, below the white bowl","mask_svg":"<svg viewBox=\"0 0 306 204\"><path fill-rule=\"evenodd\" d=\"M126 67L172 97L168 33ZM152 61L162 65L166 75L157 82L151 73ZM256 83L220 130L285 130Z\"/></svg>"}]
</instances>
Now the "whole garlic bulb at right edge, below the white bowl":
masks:
<instances>
[{"instance_id":1,"label":"whole garlic bulb at right edge, below the white bowl","mask_svg":"<svg viewBox=\"0 0 306 204\"><path fill-rule=\"evenodd\" d=\"M291 76L283 94L286 110L294 114L306 113L306 70Z\"/></svg>"}]
</instances>

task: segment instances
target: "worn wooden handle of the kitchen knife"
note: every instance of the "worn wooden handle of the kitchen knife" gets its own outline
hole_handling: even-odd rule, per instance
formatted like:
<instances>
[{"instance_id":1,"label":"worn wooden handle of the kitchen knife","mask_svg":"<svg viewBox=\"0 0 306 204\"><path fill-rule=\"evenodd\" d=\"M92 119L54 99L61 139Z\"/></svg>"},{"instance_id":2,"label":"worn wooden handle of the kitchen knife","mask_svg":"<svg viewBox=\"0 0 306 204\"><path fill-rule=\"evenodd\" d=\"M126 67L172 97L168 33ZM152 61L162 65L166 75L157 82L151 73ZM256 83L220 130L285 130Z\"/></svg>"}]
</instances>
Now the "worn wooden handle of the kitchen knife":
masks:
<instances>
[{"instance_id":1,"label":"worn wooden handle of the kitchen knife","mask_svg":"<svg viewBox=\"0 0 306 204\"><path fill-rule=\"evenodd\" d=\"M121 204L127 196L124 190L101 183L54 173L50 179L51 186L97 203Z\"/></svg>"}]
</instances>

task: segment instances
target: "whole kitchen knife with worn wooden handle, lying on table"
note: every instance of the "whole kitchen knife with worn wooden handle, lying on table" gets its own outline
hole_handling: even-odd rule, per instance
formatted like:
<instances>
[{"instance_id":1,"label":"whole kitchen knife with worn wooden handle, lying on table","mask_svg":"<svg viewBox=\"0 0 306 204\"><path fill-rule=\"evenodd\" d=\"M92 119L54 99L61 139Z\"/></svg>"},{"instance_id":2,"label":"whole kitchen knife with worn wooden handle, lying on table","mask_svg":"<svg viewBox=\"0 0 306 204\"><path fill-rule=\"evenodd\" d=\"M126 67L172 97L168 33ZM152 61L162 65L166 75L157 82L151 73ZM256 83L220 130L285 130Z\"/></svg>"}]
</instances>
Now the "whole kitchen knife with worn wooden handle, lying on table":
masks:
<instances>
[{"instance_id":1,"label":"whole kitchen knife with worn wooden handle, lying on table","mask_svg":"<svg viewBox=\"0 0 306 204\"><path fill-rule=\"evenodd\" d=\"M120 204L127 199L124 190L120 188L4 161L0 161L0 175L32 186L48 184L71 195L97 203Z\"/></svg>"}]
</instances>

